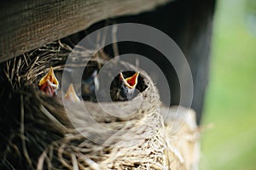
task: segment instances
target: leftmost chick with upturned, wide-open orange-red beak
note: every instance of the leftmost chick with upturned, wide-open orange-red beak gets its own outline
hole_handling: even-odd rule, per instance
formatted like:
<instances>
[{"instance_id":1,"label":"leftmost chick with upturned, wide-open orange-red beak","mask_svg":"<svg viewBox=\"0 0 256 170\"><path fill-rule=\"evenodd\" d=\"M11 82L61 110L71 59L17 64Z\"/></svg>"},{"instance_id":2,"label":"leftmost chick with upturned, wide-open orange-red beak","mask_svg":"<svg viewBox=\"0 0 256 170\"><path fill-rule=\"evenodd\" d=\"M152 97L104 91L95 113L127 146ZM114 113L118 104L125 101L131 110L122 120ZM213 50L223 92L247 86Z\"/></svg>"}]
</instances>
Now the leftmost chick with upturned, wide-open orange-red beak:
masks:
<instances>
[{"instance_id":1,"label":"leftmost chick with upturned, wide-open orange-red beak","mask_svg":"<svg viewBox=\"0 0 256 170\"><path fill-rule=\"evenodd\" d=\"M55 77L53 68L50 67L48 73L41 78L38 87L40 90L44 91L49 96L56 96L57 89L59 88L59 82Z\"/></svg>"}]
</instances>

